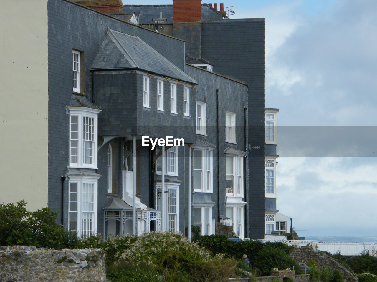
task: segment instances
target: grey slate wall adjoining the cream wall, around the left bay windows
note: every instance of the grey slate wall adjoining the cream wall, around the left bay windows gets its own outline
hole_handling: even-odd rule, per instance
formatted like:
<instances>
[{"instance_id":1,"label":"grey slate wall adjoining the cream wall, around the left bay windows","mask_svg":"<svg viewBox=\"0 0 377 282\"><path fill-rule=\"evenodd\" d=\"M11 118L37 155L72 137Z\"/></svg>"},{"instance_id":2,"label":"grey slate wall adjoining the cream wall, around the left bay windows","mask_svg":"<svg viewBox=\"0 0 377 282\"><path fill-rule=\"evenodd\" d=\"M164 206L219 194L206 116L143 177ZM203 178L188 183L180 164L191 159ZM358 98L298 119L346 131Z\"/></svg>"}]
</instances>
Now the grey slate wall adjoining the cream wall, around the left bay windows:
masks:
<instances>
[{"instance_id":1,"label":"grey slate wall adjoining the cream wall, around the left bay windows","mask_svg":"<svg viewBox=\"0 0 377 282\"><path fill-rule=\"evenodd\" d=\"M116 20L67 0L48 1L48 206L59 212L57 218L59 223L63 222L61 218L63 189L66 191L64 194L64 210L67 210L68 207L68 184L64 177L67 172L69 154L69 114L66 105L72 96L72 49L84 53L85 94L91 100L92 76L89 67L108 28L139 36L141 40L152 46L181 70L184 70L183 41ZM96 102L95 97L94 102ZM99 116L101 116L101 113ZM101 205L99 202L98 215L103 212ZM66 224L66 219L64 223ZM100 224L100 220L98 223Z\"/></svg>"}]
</instances>

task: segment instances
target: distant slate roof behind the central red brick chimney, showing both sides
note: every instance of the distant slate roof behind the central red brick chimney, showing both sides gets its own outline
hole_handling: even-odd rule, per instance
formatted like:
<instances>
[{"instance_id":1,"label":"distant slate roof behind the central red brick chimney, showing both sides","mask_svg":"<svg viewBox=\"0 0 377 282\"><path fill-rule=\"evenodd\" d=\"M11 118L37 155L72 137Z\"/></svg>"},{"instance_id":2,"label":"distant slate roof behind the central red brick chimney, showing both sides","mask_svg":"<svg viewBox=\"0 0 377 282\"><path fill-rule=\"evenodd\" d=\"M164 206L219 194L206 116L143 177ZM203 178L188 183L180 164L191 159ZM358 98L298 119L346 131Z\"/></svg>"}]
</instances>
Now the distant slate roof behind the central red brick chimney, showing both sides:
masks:
<instances>
[{"instance_id":1,"label":"distant slate roof behind the central red brick chimney, showing both sides","mask_svg":"<svg viewBox=\"0 0 377 282\"><path fill-rule=\"evenodd\" d=\"M140 12L140 23L152 23L152 18L159 18L162 12L162 18L166 18L167 23L173 23L173 5L124 5L123 12L127 14ZM221 20L215 9L202 4L202 20Z\"/></svg>"}]
</instances>

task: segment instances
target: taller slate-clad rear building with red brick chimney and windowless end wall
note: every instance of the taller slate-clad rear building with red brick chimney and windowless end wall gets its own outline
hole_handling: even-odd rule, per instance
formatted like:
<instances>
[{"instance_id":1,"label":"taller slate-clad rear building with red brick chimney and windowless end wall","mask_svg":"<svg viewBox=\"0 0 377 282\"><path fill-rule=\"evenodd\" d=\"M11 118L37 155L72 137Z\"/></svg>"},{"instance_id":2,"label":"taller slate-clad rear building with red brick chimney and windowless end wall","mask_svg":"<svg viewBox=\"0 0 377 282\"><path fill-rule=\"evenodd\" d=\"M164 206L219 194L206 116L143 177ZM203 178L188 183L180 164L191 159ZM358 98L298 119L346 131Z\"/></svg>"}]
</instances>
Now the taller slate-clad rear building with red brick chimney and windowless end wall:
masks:
<instances>
[{"instance_id":1,"label":"taller slate-clad rear building with red brick chimney and windowless end wall","mask_svg":"<svg viewBox=\"0 0 377 282\"><path fill-rule=\"evenodd\" d=\"M229 19L222 3L218 10L216 3L212 7L201 0L173 0L173 5L124 5L123 12L134 12L141 25L185 40L186 62L248 85L248 139L244 149L248 204L244 220L247 237L264 238L265 19Z\"/></svg>"}]
</instances>

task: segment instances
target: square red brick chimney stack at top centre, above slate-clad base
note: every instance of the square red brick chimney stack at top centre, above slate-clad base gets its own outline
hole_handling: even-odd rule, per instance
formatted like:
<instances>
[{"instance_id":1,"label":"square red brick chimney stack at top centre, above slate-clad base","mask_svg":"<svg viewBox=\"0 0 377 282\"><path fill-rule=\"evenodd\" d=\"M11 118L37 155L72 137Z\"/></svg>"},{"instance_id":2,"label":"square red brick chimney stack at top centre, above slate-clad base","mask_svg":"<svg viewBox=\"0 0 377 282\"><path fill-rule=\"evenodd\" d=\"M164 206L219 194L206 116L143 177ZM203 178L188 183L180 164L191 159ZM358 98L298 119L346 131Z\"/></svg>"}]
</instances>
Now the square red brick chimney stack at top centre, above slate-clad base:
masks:
<instances>
[{"instance_id":1,"label":"square red brick chimney stack at top centre, above slate-clad base","mask_svg":"<svg viewBox=\"0 0 377 282\"><path fill-rule=\"evenodd\" d=\"M173 0L173 23L202 20L201 0Z\"/></svg>"}]
</instances>

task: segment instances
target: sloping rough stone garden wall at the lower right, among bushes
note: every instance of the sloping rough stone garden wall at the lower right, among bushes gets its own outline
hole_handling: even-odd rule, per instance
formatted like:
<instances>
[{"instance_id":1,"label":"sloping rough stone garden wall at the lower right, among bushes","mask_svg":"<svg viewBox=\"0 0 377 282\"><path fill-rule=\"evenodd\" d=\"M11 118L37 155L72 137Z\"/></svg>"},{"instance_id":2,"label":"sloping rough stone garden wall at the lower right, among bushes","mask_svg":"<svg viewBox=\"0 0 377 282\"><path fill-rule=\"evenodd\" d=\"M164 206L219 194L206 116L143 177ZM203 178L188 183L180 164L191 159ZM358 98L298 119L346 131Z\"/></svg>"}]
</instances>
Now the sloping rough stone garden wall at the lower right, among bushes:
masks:
<instances>
[{"instance_id":1,"label":"sloping rough stone garden wall at the lower right, among bushes","mask_svg":"<svg viewBox=\"0 0 377 282\"><path fill-rule=\"evenodd\" d=\"M334 261L326 253L314 252L311 248L294 248L291 253L291 256L296 259L297 262L305 262L308 264L308 261L312 259L318 263L319 267L331 268L332 270L339 270L343 274L343 279L346 282L358 282L355 276L352 275L345 267L340 265L337 261Z\"/></svg>"}]
</instances>

